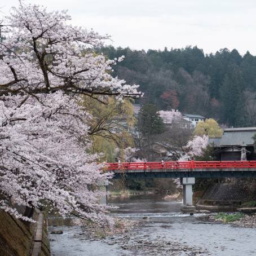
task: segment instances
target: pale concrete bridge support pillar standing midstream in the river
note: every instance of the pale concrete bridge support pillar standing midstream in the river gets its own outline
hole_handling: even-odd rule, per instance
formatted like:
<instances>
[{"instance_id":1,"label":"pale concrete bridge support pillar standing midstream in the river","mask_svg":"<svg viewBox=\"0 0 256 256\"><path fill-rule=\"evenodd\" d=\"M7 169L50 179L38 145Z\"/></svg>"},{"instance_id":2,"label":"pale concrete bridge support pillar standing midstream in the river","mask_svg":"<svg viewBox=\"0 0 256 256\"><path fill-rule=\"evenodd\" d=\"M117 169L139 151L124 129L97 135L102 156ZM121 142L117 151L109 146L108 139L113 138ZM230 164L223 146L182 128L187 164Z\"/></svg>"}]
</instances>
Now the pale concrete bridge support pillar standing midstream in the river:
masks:
<instances>
[{"instance_id":1,"label":"pale concrete bridge support pillar standing midstream in the river","mask_svg":"<svg viewBox=\"0 0 256 256\"><path fill-rule=\"evenodd\" d=\"M196 210L192 201L192 186L195 184L195 178L181 178L181 183L183 185L183 204L180 210L182 210L183 213L193 213Z\"/></svg>"}]
</instances>

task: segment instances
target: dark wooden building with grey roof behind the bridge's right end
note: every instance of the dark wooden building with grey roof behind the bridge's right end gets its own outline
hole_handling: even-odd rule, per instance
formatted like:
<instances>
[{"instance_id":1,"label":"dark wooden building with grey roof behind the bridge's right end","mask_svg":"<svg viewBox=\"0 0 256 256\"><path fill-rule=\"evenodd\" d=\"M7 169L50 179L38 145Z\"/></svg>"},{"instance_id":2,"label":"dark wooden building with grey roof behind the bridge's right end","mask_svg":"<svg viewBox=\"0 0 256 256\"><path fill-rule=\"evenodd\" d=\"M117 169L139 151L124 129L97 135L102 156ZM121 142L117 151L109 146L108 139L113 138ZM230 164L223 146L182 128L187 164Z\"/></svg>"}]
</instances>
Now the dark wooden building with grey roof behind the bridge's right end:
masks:
<instances>
[{"instance_id":1,"label":"dark wooden building with grey roof behind the bridge's right end","mask_svg":"<svg viewBox=\"0 0 256 256\"><path fill-rule=\"evenodd\" d=\"M224 129L222 138L209 138L217 161L255 161L253 136L256 127Z\"/></svg>"}]
</instances>

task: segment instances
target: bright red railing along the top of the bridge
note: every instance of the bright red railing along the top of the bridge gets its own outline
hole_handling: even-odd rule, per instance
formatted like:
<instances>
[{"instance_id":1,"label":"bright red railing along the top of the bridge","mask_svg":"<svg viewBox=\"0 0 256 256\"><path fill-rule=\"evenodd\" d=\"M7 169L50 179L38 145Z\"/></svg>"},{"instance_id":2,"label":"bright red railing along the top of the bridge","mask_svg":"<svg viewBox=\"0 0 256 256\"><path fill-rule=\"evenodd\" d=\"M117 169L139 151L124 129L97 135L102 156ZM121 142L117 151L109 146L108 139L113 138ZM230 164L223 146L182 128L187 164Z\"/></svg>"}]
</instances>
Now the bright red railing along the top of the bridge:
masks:
<instances>
[{"instance_id":1,"label":"bright red railing along the top of the bridge","mask_svg":"<svg viewBox=\"0 0 256 256\"><path fill-rule=\"evenodd\" d=\"M158 170L158 169L218 169L255 168L256 161L187 161L187 162L114 162L107 163L109 171L114 170Z\"/></svg>"}]
</instances>

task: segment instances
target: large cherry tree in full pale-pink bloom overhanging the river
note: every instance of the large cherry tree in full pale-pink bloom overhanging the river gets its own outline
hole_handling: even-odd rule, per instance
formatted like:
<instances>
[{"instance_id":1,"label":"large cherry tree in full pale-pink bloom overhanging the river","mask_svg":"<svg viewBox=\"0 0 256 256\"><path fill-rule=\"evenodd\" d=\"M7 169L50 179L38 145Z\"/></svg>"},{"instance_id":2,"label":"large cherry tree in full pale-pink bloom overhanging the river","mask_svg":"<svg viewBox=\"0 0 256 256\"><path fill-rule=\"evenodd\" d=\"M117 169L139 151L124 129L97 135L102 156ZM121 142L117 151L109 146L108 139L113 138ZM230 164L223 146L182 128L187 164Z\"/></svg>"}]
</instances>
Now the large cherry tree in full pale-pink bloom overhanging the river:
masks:
<instances>
[{"instance_id":1,"label":"large cherry tree in full pale-pink bloom overhanging the river","mask_svg":"<svg viewBox=\"0 0 256 256\"><path fill-rule=\"evenodd\" d=\"M110 178L91 155L90 114L81 95L101 100L139 97L138 86L111 76L112 65L95 47L99 36L69 24L66 11L25 5L12 8L0 42L0 207L32 221L34 208L50 205L61 215L108 222L100 192ZM26 206L24 214L16 205Z\"/></svg>"}]
</instances>

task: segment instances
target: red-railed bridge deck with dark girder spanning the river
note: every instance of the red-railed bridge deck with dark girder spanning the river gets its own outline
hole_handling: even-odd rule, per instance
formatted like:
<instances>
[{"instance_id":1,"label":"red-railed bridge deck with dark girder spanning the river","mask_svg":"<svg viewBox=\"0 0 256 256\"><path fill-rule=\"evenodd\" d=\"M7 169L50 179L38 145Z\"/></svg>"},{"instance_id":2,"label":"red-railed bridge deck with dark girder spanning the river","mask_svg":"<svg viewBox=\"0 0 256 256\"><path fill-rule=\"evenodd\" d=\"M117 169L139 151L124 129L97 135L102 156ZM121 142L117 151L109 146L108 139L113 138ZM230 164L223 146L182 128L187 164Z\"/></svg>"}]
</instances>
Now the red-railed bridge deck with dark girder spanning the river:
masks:
<instances>
[{"instance_id":1,"label":"red-railed bridge deck with dark girder spanning the river","mask_svg":"<svg viewBox=\"0 0 256 256\"><path fill-rule=\"evenodd\" d=\"M107 163L114 178L242 177L256 176L256 161L114 162Z\"/></svg>"}]
</instances>

